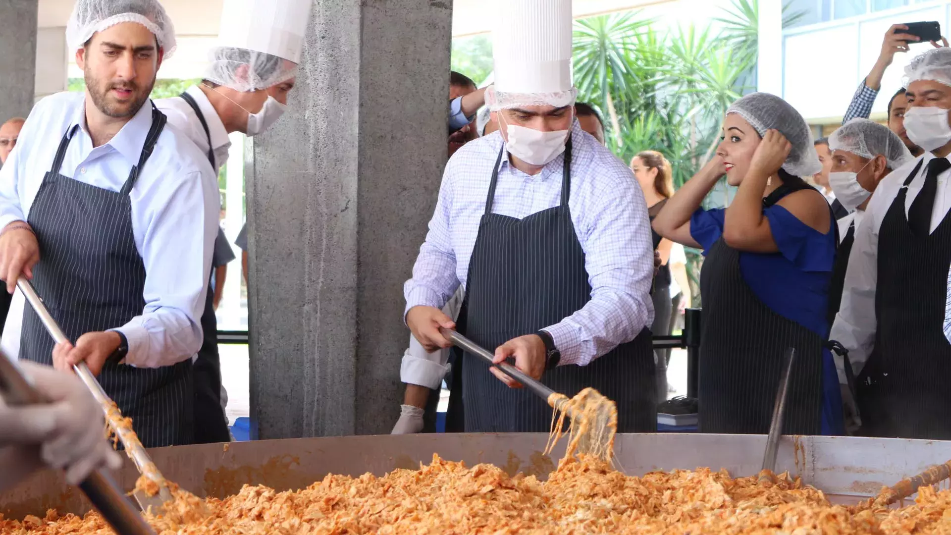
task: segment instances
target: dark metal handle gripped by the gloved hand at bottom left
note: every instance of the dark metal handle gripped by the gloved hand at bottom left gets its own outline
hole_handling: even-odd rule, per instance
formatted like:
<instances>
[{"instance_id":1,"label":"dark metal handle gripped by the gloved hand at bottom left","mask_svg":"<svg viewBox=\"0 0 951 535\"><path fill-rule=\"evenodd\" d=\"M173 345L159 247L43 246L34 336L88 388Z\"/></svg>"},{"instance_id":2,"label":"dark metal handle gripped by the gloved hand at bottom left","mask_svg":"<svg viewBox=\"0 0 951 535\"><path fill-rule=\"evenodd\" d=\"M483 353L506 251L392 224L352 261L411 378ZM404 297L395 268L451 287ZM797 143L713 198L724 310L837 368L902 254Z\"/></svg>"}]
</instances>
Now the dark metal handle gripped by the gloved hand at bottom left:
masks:
<instances>
[{"instance_id":1,"label":"dark metal handle gripped by the gloved hand at bottom left","mask_svg":"<svg viewBox=\"0 0 951 535\"><path fill-rule=\"evenodd\" d=\"M0 397L10 406L35 405L48 401L29 384L27 378L3 351L0 351ZM79 488L119 535L155 535L155 531L133 508L106 470L100 468L92 472L79 484Z\"/></svg>"}]
</instances>

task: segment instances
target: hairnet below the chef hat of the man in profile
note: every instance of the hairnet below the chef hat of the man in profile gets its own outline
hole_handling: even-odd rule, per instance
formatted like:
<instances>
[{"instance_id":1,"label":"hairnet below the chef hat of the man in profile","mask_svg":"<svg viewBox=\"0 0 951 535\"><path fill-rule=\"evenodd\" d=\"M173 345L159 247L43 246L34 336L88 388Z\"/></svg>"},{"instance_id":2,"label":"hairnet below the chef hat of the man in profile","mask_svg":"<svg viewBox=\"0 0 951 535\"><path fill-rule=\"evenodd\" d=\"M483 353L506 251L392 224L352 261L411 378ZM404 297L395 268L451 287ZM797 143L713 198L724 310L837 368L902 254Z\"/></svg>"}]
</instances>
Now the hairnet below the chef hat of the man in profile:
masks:
<instances>
[{"instance_id":1,"label":"hairnet below the chef hat of the man in profile","mask_svg":"<svg viewBox=\"0 0 951 535\"><path fill-rule=\"evenodd\" d=\"M204 79L236 91L267 89L297 74L296 63L257 50L215 47L208 56Z\"/></svg>"}]
</instances>

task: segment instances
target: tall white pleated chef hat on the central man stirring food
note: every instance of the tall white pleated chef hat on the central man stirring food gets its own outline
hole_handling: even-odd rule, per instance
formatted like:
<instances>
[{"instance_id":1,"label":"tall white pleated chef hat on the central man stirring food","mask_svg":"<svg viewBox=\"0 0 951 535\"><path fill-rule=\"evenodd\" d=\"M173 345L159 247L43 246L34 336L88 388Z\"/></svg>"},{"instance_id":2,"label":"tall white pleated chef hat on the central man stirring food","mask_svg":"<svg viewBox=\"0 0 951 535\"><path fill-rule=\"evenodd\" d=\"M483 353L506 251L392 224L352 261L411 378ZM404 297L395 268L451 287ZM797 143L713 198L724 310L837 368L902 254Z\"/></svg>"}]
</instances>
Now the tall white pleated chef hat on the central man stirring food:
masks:
<instances>
[{"instance_id":1,"label":"tall white pleated chef hat on the central man stirring food","mask_svg":"<svg viewBox=\"0 0 951 535\"><path fill-rule=\"evenodd\" d=\"M489 107L572 106L572 0L498 0L494 12Z\"/></svg>"}]
</instances>

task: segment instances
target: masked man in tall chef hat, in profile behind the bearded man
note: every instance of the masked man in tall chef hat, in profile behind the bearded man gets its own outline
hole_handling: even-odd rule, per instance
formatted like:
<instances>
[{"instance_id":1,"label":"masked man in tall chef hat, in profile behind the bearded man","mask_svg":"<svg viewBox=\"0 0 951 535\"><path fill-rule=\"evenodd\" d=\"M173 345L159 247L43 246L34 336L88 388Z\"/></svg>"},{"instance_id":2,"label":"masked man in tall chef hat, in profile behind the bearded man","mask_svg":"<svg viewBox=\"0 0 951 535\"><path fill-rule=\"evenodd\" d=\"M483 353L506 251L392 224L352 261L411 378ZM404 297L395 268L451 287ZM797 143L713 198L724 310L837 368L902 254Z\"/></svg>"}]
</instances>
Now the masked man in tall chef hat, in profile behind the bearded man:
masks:
<instances>
[{"instance_id":1,"label":"masked man in tall chef hat, in profile behind the bearded man","mask_svg":"<svg viewBox=\"0 0 951 535\"><path fill-rule=\"evenodd\" d=\"M204 80L178 97L155 102L168 123L206 155L216 171L215 188L217 171L231 147L228 134L259 134L286 109L289 89L284 88L293 88L310 6L310 0L225 0L218 43L209 53ZM230 247L221 232L218 241L223 243L216 246ZM210 278L209 273L209 282ZM202 329L204 343L194 363L195 442L227 442L227 393L222 386L218 322L210 290Z\"/></svg>"}]
</instances>

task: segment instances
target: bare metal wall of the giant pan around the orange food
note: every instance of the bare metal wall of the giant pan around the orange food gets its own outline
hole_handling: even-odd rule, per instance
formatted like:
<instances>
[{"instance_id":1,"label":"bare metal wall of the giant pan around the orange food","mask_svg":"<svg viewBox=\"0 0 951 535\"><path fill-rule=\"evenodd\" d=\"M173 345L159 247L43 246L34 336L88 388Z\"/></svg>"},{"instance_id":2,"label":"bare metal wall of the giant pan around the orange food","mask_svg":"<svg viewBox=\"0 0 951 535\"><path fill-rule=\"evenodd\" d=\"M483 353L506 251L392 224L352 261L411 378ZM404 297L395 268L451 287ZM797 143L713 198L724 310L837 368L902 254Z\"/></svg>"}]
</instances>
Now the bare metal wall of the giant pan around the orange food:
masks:
<instances>
[{"instance_id":1,"label":"bare metal wall of the giant pan around the orange food","mask_svg":"<svg viewBox=\"0 0 951 535\"><path fill-rule=\"evenodd\" d=\"M492 463L511 474L543 477L564 453L562 444L552 455L543 455L547 439L545 434L385 435L172 446L148 452L169 480L200 496L223 498L245 484L296 489L329 473L382 475L395 468L417 468L429 463L434 453L470 466ZM760 470L766 444L766 435L622 434L615 454L630 475L709 466L727 468L733 476L753 476ZM854 503L947 459L951 442L785 436L776 467L801 476L836 501ZM138 475L126 462L116 479L127 490ZM49 508L84 513L89 505L51 470L0 494L0 512L7 518L42 517Z\"/></svg>"}]
</instances>

